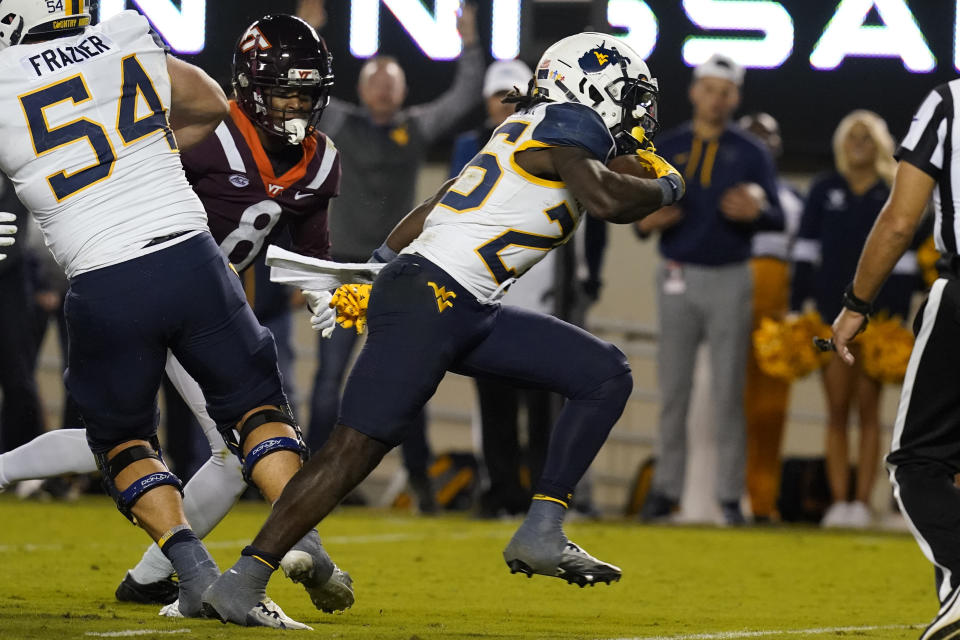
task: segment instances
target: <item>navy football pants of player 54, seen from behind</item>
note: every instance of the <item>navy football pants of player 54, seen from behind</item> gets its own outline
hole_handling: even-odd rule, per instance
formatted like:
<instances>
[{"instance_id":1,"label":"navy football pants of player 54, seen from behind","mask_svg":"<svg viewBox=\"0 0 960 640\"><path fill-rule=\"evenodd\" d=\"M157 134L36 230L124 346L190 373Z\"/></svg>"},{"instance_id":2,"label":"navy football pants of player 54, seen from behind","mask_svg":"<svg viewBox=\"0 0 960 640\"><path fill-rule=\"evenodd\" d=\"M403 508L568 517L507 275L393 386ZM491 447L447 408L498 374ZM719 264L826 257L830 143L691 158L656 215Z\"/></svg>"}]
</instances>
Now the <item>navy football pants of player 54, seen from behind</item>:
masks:
<instances>
[{"instance_id":1,"label":"navy football pants of player 54, seen from behind","mask_svg":"<svg viewBox=\"0 0 960 640\"><path fill-rule=\"evenodd\" d=\"M95 453L156 433L167 349L200 384L218 424L286 402L273 336L207 232L76 276L65 314L67 389Z\"/></svg>"}]
</instances>

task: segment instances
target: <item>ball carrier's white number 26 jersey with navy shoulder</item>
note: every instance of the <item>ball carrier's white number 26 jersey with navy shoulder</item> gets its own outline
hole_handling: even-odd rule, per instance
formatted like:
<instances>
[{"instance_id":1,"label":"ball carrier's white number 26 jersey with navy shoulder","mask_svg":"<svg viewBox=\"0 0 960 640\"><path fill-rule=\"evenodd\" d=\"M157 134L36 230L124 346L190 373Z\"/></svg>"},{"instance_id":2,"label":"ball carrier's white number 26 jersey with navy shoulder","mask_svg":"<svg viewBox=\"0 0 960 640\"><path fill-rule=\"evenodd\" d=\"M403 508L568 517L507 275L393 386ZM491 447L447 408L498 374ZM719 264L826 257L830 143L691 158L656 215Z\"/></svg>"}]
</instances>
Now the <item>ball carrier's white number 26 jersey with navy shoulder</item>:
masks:
<instances>
[{"instance_id":1,"label":"ball carrier's white number 26 jersey with navy shoulder","mask_svg":"<svg viewBox=\"0 0 960 640\"><path fill-rule=\"evenodd\" d=\"M545 103L507 118L463 168L403 253L419 253L482 300L523 275L579 224L580 204L563 182L530 175L516 153L582 147L613 153L603 120L578 103Z\"/></svg>"}]
</instances>

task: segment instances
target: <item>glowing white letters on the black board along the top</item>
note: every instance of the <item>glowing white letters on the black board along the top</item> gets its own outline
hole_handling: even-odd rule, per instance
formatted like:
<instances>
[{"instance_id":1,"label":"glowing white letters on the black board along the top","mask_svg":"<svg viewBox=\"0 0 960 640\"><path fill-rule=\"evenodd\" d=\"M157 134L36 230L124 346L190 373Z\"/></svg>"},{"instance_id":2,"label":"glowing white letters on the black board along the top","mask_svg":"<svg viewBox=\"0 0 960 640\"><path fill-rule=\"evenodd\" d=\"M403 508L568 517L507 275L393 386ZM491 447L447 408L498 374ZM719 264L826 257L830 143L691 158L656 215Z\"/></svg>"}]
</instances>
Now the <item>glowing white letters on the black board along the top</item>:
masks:
<instances>
[{"instance_id":1,"label":"glowing white letters on the black board along the top","mask_svg":"<svg viewBox=\"0 0 960 640\"><path fill-rule=\"evenodd\" d=\"M948 2L937 0L946 9ZM960 69L958 18L960 0L953 0L953 64ZM106 18L126 7L126 0L101 0ZM206 35L207 0L135 0L171 48L178 53L199 53ZM460 54L455 11L460 0L435 0L429 10L419 0L350 0L350 52L367 58L380 50L381 11L389 11L423 54L432 60L450 60ZM699 64L715 52L729 55L746 67L775 69L791 55L808 55L814 69L830 70L848 57L899 58L916 73L933 71L938 61L906 0L842 0L813 50L794 51L794 20L784 3L772 0L682 0L690 23L697 30L724 35L691 34L681 55L688 66ZM520 53L521 0L490 0L490 53L499 59ZM335 11L336 8L331 7ZM871 12L881 24L867 24ZM623 30L626 40L644 57L657 46L660 24L645 0L607 0L610 26ZM758 34L758 35L739 35Z\"/></svg>"}]
</instances>

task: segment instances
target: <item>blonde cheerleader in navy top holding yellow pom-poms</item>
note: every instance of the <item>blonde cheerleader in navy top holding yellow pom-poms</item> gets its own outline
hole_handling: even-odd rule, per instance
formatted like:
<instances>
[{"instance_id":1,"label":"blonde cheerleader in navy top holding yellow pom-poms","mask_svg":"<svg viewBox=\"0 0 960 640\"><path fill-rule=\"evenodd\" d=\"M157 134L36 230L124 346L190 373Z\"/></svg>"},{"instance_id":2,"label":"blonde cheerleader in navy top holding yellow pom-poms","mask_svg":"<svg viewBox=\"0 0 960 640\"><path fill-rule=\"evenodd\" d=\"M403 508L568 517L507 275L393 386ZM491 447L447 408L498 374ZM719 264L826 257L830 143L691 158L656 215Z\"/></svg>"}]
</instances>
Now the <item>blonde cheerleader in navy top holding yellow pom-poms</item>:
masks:
<instances>
[{"instance_id":1,"label":"blonde cheerleader in navy top holding yellow pom-poms","mask_svg":"<svg viewBox=\"0 0 960 640\"><path fill-rule=\"evenodd\" d=\"M790 306L799 311L812 298L825 322L841 309L843 288L853 278L857 258L890 195L896 170L893 138L887 124L872 111L847 115L833 134L836 168L810 186L800 223ZM910 298L920 286L916 253L897 263L874 301L878 310L906 318ZM859 345L852 367L833 358L823 370L827 404L825 443L827 479L833 504L823 517L825 527L866 527L872 521L870 495L880 462L880 394L882 384L863 370ZM856 493L850 491L848 424L856 405L860 420Z\"/></svg>"}]
</instances>

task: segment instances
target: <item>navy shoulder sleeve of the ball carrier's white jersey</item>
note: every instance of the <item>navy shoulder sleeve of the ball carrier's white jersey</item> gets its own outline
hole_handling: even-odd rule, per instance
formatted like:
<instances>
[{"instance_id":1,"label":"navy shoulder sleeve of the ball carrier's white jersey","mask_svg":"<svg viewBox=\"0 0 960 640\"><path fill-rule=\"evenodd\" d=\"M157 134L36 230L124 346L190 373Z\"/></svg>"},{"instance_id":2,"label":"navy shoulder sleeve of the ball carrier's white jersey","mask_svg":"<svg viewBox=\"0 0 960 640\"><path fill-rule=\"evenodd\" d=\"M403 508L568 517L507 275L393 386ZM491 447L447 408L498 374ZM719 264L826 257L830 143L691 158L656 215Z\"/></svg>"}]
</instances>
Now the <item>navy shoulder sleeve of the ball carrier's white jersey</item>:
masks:
<instances>
[{"instance_id":1,"label":"navy shoulder sleeve of the ball carrier's white jersey","mask_svg":"<svg viewBox=\"0 0 960 640\"><path fill-rule=\"evenodd\" d=\"M575 102L550 104L531 138L548 147L580 147L606 162L615 144L597 112Z\"/></svg>"}]
</instances>

